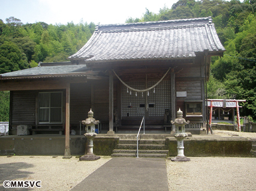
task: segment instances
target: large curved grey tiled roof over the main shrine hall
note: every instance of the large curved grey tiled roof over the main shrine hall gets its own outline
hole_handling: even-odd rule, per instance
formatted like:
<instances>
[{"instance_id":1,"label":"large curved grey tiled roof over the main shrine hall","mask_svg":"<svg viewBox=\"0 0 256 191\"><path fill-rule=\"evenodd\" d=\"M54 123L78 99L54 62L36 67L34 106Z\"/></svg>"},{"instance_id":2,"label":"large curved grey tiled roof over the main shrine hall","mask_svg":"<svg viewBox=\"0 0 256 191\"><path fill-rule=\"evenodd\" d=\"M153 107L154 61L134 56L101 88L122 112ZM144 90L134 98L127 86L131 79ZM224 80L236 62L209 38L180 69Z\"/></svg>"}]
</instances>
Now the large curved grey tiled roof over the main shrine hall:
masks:
<instances>
[{"instance_id":1,"label":"large curved grey tiled roof over the main shrine hall","mask_svg":"<svg viewBox=\"0 0 256 191\"><path fill-rule=\"evenodd\" d=\"M69 58L88 63L194 58L204 50L225 51L210 17L100 25Z\"/></svg>"}]
</instances>

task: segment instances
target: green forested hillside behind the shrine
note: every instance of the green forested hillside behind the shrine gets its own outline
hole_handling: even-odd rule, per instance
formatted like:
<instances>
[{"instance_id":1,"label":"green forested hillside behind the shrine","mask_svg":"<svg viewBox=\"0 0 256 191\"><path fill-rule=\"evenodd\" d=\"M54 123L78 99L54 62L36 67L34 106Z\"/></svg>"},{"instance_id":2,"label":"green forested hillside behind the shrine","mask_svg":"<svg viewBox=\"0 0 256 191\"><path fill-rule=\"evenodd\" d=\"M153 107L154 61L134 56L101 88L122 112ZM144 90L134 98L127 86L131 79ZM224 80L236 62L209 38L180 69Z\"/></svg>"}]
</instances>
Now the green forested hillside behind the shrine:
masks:
<instances>
[{"instance_id":1,"label":"green forested hillside behind the shrine","mask_svg":"<svg viewBox=\"0 0 256 191\"><path fill-rule=\"evenodd\" d=\"M126 23L209 17L225 46L224 57L213 57L208 98L245 99L242 115L256 119L256 0L180 0L159 13L145 11ZM5 22L4 22L5 20ZM94 32L94 23L26 23L0 18L0 74L37 66L39 61L68 61ZM0 121L8 121L8 92L0 92Z\"/></svg>"}]
</instances>

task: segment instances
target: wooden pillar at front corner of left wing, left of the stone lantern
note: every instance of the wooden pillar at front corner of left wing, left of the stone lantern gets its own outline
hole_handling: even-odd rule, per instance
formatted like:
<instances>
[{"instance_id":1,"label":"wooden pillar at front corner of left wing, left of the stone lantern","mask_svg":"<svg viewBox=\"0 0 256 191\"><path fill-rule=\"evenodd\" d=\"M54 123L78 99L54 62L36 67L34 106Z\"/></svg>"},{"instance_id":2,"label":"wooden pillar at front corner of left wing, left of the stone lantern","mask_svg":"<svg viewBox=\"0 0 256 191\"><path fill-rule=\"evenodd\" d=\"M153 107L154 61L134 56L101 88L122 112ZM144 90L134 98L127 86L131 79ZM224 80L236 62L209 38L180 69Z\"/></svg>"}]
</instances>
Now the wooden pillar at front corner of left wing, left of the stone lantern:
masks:
<instances>
[{"instance_id":1,"label":"wooden pillar at front corner of left wing, left of the stone lantern","mask_svg":"<svg viewBox=\"0 0 256 191\"><path fill-rule=\"evenodd\" d=\"M65 153L62 159L70 159L70 84L66 87L66 116L65 116Z\"/></svg>"}]
</instances>

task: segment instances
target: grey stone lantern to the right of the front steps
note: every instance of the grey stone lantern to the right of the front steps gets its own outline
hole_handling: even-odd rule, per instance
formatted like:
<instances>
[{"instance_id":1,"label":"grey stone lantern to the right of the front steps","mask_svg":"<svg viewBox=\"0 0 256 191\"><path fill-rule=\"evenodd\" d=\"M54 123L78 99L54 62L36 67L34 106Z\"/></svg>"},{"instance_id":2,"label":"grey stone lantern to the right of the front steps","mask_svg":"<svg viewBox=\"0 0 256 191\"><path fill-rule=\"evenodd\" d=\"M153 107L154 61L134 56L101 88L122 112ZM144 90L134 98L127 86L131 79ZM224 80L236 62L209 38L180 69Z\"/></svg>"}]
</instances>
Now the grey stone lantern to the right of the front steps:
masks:
<instances>
[{"instance_id":1,"label":"grey stone lantern to the right of the front steps","mask_svg":"<svg viewBox=\"0 0 256 191\"><path fill-rule=\"evenodd\" d=\"M178 155L175 158L171 158L171 161L190 161L189 158L186 158L184 155L184 144L183 140L188 137L188 134L185 133L185 125L189 124L189 121L186 122L186 120L183 117L183 112L180 110L177 111L177 118L174 119L174 122L171 121L171 124L175 125L175 134L174 137L177 139L177 152Z\"/></svg>"}]
</instances>

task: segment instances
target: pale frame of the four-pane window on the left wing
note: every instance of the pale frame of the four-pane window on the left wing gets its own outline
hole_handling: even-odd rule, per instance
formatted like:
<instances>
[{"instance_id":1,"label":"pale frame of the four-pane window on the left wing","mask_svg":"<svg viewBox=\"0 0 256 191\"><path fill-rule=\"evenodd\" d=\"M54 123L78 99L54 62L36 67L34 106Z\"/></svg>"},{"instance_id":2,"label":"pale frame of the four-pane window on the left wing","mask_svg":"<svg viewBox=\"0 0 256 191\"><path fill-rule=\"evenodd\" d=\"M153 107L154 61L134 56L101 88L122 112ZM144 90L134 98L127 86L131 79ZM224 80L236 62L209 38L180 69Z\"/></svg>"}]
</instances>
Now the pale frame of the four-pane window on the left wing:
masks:
<instances>
[{"instance_id":1,"label":"pale frame of the four-pane window on the left wing","mask_svg":"<svg viewBox=\"0 0 256 191\"><path fill-rule=\"evenodd\" d=\"M56 106L51 106L51 98L50 95L52 93L61 93L61 106L56 107ZM49 106L48 107L40 107L40 94L49 94ZM51 122L51 109L61 109L61 121L59 122ZM48 116L48 121L41 121L40 122L40 109L49 109L49 116ZM63 123L63 92L62 91L41 91L38 93L38 124L62 124Z\"/></svg>"}]
</instances>

